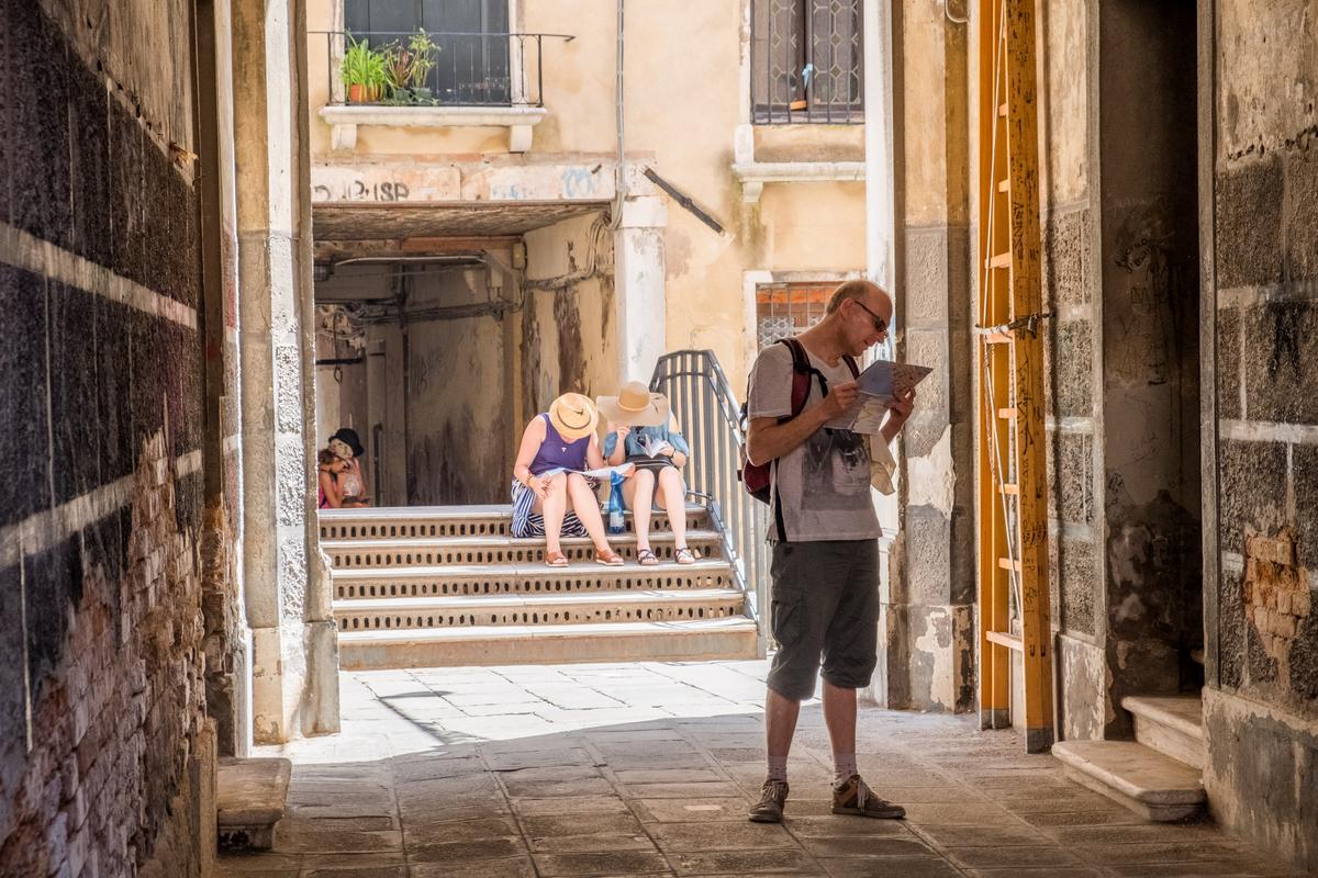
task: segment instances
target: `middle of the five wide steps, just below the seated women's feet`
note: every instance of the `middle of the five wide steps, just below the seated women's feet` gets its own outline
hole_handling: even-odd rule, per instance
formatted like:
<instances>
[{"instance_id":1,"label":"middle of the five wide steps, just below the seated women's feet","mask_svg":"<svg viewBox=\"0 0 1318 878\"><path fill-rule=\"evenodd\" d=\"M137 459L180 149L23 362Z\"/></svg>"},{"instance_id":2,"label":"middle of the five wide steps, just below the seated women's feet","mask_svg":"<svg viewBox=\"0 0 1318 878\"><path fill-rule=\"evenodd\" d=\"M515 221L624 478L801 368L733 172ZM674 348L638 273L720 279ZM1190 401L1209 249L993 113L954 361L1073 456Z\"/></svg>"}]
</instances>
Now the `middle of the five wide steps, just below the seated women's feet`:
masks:
<instances>
[{"instance_id":1,"label":"middle of the five wide steps, just below the seated women's feet","mask_svg":"<svg viewBox=\"0 0 1318 878\"><path fill-rule=\"evenodd\" d=\"M331 579L335 602L735 586L731 567L722 558L704 558L692 565L667 562L652 567L638 563L605 567L594 562L569 563L565 567L547 567L543 563L358 567L335 570Z\"/></svg>"}]
</instances>

